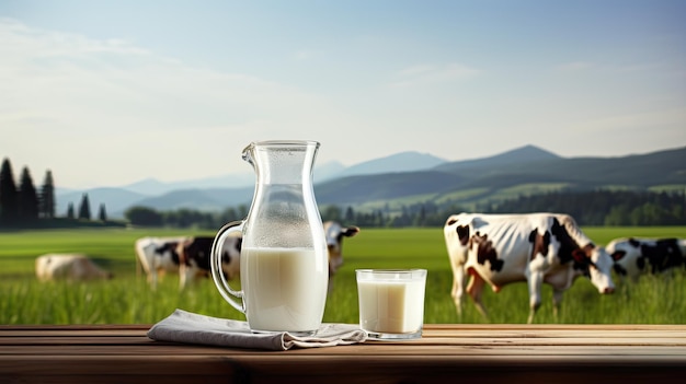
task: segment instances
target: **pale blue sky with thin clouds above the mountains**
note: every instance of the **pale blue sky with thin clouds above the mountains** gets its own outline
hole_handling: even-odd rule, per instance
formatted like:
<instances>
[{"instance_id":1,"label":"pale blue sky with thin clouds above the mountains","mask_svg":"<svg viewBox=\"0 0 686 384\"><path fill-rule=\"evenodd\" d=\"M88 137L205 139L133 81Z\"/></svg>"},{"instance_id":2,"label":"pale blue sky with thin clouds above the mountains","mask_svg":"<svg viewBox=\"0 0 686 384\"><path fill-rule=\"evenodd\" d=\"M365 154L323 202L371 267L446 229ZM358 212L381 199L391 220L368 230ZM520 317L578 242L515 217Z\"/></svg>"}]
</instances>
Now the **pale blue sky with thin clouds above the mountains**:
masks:
<instances>
[{"instance_id":1,"label":"pale blue sky with thin clouds above the mountains","mask_svg":"<svg viewBox=\"0 0 686 384\"><path fill-rule=\"evenodd\" d=\"M0 156L62 187L686 146L686 1L0 2ZM229 186L227 186L229 187Z\"/></svg>"}]
</instances>

